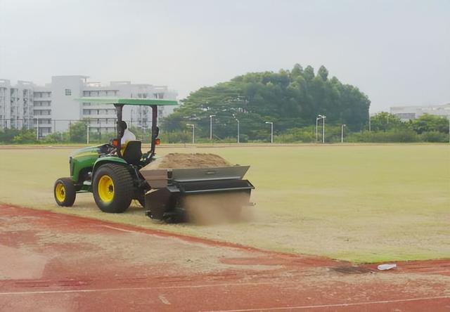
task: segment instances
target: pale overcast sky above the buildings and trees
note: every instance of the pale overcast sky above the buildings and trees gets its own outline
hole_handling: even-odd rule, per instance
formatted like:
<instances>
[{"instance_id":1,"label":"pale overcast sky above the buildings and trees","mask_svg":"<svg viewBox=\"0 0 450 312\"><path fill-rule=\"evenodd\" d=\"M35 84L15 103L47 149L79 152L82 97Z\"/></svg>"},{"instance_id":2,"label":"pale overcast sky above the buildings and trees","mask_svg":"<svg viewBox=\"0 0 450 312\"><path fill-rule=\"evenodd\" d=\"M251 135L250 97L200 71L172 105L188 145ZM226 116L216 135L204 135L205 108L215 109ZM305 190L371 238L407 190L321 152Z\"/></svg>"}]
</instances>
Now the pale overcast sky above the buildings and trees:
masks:
<instances>
[{"instance_id":1,"label":"pale overcast sky above the buildings and trees","mask_svg":"<svg viewBox=\"0 0 450 312\"><path fill-rule=\"evenodd\" d=\"M168 85L325 65L371 112L450 102L450 1L0 0L0 78Z\"/></svg>"}]
</instances>

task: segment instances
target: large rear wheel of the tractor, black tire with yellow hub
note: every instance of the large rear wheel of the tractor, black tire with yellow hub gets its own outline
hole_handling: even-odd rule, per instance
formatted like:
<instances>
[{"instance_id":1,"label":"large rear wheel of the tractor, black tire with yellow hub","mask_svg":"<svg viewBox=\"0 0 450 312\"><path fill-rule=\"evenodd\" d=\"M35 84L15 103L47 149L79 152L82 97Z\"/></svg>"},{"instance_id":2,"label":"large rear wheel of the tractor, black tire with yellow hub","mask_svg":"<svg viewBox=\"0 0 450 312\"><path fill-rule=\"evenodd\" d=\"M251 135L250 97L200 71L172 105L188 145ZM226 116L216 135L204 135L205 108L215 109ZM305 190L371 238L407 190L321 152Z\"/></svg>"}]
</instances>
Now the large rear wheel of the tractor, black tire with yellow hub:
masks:
<instances>
[{"instance_id":1,"label":"large rear wheel of the tractor, black tire with yellow hub","mask_svg":"<svg viewBox=\"0 0 450 312\"><path fill-rule=\"evenodd\" d=\"M102 178L107 181L110 178L113 181L112 192L109 192L107 195L102 193L103 182L100 183L100 188L102 189L99 190L99 181ZM111 190L111 187L108 189ZM133 198L133 179L131 174L122 164L103 164L94 175L92 193L94 193L94 200L102 212L120 214L128 209Z\"/></svg>"}]
</instances>

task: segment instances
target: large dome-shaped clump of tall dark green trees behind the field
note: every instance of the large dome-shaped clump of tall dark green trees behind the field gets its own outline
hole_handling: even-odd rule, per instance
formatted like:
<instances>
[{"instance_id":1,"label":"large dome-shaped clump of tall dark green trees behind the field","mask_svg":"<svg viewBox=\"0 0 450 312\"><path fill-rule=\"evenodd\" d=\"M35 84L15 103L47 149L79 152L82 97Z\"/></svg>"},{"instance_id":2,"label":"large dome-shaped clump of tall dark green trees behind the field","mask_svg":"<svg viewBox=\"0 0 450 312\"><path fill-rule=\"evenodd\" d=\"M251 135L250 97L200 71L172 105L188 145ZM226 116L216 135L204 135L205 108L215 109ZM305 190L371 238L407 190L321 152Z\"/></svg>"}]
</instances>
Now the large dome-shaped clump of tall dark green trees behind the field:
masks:
<instances>
[{"instance_id":1,"label":"large dome-shaped clump of tall dark green trees behind the field","mask_svg":"<svg viewBox=\"0 0 450 312\"><path fill-rule=\"evenodd\" d=\"M210 115L214 117L214 133L224 138L233 136L232 123L240 120L241 133L252 139L266 136L264 122L274 122L276 132L314 124L316 116L326 115L327 122L347 124L352 131L368 123L371 101L356 86L328 78L321 66L292 70L250 72L205 86L181 100L181 107L163 121L164 129L176 131L195 123L200 135L209 131ZM180 128L181 127L181 128Z\"/></svg>"}]
</instances>

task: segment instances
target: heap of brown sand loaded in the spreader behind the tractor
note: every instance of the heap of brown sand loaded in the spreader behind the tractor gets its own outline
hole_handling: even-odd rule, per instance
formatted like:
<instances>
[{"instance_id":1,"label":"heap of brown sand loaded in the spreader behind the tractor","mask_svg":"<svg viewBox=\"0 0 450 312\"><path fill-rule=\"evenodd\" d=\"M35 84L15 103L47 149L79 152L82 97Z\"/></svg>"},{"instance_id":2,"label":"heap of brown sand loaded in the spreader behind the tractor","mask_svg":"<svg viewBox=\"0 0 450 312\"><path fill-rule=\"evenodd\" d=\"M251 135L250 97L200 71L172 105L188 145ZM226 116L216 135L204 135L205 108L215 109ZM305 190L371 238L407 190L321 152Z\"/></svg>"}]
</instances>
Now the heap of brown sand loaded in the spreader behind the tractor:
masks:
<instances>
[{"instance_id":1,"label":"heap of brown sand loaded in the spreader behind the tractor","mask_svg":"<svg viewBox=\"0 0 450 312\"><path fill-rule=\"evenodd\" d=\"M219 155L207 153L184 154L174 152L151 162L145 169L211 168L229 166L232 166L232 164Z\"/></svg>"}]
</instances>

